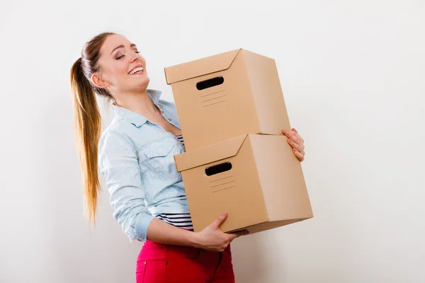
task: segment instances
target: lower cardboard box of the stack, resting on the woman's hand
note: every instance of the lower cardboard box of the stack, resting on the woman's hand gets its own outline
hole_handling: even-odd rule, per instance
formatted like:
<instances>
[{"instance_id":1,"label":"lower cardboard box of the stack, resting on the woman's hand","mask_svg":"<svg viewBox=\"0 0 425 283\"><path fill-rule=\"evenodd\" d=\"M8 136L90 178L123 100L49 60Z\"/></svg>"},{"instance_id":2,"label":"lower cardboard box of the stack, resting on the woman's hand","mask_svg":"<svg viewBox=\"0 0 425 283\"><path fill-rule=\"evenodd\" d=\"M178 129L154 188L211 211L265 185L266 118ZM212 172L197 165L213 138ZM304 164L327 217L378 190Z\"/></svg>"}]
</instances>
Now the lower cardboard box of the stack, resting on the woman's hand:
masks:
<instances>
[{"instance_id":1,"label":"lower cardboard box of the stack, resting on the woman's hand","mask_svg":"<svg viewBox=\"0 0 425 283\"><path fill-rule=\"evenodd\" d=\"M245 134L174 159L195 231L222 212L225 232L256 233L313 216L300 161L283 135Z\"/></svg>"}]
</instances>

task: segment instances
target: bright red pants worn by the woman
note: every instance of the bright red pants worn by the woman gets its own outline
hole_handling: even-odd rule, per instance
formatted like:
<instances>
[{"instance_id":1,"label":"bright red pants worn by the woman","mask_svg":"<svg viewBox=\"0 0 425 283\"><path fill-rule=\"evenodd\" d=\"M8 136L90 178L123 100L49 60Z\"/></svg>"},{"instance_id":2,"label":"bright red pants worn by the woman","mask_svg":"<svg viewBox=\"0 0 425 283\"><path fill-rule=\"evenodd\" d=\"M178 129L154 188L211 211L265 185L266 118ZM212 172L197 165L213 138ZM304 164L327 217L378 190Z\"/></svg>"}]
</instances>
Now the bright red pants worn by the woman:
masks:
<instances>
[{"instance_id":1,"label":"bright red pants worn by the woman","mask_svg":"<svg viewBox=\"0 0 425 283\"><path fill-rule=\"evenodd\" d=\"M146 241L137 257L137 283L234 283L230 245L223 252Z\"/></svg>"}]
</instances>

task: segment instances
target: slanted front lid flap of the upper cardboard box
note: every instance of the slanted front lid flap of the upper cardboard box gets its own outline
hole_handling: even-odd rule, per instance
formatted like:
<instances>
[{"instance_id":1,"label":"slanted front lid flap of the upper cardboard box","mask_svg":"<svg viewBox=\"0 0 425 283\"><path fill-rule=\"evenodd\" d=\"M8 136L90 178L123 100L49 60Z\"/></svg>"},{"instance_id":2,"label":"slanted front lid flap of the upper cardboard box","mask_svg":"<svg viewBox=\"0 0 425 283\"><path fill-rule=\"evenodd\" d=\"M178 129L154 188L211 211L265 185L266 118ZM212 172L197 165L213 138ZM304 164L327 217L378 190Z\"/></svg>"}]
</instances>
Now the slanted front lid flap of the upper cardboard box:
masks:
<instances>
[{"instance_id":1,"label":"slanted front lid flap of the upper cardboard box","mask_svg":"<svg viewBox=\"0 0 425 283\"><path fill-rule=\"evenodd\" d=\"M215 73L216 71L229 69L240 50L241 49L237 49L191 62L166 67L164 69L166 83L176 83L178 81L184 81L197 76L204 76L206 74Z\"/></svg>"}]
</instances>

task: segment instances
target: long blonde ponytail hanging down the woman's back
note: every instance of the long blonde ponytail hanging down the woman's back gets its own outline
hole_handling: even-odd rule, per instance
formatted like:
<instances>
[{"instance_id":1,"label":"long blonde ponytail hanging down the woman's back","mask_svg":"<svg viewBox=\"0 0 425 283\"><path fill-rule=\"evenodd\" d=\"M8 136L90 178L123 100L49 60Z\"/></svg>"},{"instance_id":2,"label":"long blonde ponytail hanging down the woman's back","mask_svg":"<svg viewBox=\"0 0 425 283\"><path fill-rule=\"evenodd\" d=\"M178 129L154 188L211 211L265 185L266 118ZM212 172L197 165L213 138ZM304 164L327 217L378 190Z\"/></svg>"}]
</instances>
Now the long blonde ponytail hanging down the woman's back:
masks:
<instances>
[{"instance_id":1,"label":"long blonde ponytail hanging down the woman's back","mask_svg":"<svg viewBox=\"0 0 425 283\"><path fill-rule=\"evenodd\" d=\"M98 180L101 114L94 89L84 76L81 58L71 68L71 91L74 102L74 134L83 176L85 207L89 223L96 225L98 193L101 190Z\"/></svg>"}]
</instances>

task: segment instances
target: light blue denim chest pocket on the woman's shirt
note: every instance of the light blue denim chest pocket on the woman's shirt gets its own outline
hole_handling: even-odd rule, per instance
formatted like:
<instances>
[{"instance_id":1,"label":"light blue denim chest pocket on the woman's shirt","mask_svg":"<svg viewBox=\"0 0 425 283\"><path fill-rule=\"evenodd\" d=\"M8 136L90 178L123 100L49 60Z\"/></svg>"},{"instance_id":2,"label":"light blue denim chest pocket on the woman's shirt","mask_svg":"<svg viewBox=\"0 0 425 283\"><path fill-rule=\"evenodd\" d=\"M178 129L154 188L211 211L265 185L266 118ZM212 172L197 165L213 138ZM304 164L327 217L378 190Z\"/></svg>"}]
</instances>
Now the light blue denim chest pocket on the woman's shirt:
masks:
<instances>
[{"instance_id":1,"label":"light blue denim chest pocket on the woman's shirt","mask_svg":"<svg viewBox=\"0 0 425 283\"><path fill-rule=\"evenodd\" d=\"M174 155L181 152L178 142L175 139L154 141L142 149L147 157L149 168L161 180L178 180L180 177L174 163Z\"/></svg>"}]
</instances>

